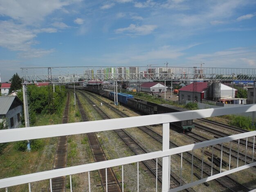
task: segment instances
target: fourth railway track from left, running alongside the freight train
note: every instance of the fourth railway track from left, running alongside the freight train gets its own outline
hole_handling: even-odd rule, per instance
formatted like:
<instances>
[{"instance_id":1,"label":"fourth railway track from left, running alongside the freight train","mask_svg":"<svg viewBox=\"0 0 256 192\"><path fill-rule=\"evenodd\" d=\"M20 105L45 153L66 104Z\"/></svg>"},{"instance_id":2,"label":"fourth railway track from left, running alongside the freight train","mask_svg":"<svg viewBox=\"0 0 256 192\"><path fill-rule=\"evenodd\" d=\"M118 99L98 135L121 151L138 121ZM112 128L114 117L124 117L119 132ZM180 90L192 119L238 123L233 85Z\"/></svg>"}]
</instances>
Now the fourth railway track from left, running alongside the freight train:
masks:
<instances>
[{"instance_id":1,"label":"fourth railway track from left, running alongside the freight train","mask_svg":"<svg viewBox=\"0 0 256 192\"><path fill-rule=\"evenodd\" d=\"M98 100L100 100L100 99L98 99ZM103 102L102 100L101 100L101 102L104 103L104 105L107 105L108 107L112 107L111 105L109 105L108 103ZM114 110L114 109L115 108L112 107L112 110ZM115 109L115 110L119 111L118 109ZM118 113L122 113L122 112L119 111ZM123 114L122 115L123 117L127 117L126 114L124 114L124 113L122 113L122 114ZM141 129L141 127L139 127L139 128ZM155 140L157 140L160 143L162 143L162 136L157 134L153 130L151 130L149 127L143 126L143 128L141 130L143 130L144 132L149 134ZM175 145L172 142L170 142L169 145L170 145L170 148L178 147L177 145ZM177 155L180 156L180 154L177 154ZM193 167L198 169L198 170L201 170L201 167L202 167L201 159L199 159L198 157L194 156L190 152L183 153L182 157L189 164L191 164L191 160L192 160L192 157L193 157ZM211 165L209 165L208 163L203 162L203 173L204 173L204 175L211 176L211 172L212 172L212 175L214 175L214 174L220 173L220 170L217 170L214 167L211 167ZM234 179L232 179L229 176L223 176L223 177L215 179L215 180L218 183L220 183L222 186L228 188L230 191L234 191L234 192L237 192L237 191L247 192L247 191L249 191L249 189L247 187L245 187L244 185L238 183L237 181L235 181Z\"/></svg>"}]
</instances>

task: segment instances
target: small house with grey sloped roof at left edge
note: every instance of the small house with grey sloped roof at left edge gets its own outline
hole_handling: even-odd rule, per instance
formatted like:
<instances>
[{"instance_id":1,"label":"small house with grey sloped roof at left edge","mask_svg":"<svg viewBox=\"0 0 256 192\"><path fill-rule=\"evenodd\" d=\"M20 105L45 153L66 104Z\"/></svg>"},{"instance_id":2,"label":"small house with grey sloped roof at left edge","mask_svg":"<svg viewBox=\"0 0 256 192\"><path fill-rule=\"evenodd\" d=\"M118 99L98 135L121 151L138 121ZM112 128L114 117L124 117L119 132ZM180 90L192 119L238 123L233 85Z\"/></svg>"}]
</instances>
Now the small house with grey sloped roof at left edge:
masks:
<instances>
[{"instance_id":1,"label":"small house with grey sloped roof at left edge","mask_svg":"<svg viewBox=\"0 0 256 192\"><path fill-rule=\"evenodd\" d=\"M20 127L22 105L17 96L0 96L0 119L6 119L9 129Z\"/></svg>"}]
</instances>

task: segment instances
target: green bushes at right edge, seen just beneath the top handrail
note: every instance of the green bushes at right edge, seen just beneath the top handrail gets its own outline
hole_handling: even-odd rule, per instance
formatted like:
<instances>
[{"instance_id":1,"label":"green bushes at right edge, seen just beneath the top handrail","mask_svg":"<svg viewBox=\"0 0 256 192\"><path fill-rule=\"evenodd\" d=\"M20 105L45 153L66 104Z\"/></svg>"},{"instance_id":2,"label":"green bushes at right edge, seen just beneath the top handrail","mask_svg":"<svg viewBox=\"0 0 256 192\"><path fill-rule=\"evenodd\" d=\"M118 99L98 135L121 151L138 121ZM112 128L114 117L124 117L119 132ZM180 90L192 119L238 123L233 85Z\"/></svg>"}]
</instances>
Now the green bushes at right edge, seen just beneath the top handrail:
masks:
<instances>
[{"instance_id":1,"label":"green bushes at right edge, seen just beneath the top handrail","mask_svg":"<svg viewBox=\"0 0 256 192\"><path fill-rule=\"evenodd\" d=\"M231 122L230 125L239 127L241 129L247 129L249 131L252 131L255 129L254 123L252 123L252 118L245 117L245 116L231 116Z\"/></svg>"}]
</instances>

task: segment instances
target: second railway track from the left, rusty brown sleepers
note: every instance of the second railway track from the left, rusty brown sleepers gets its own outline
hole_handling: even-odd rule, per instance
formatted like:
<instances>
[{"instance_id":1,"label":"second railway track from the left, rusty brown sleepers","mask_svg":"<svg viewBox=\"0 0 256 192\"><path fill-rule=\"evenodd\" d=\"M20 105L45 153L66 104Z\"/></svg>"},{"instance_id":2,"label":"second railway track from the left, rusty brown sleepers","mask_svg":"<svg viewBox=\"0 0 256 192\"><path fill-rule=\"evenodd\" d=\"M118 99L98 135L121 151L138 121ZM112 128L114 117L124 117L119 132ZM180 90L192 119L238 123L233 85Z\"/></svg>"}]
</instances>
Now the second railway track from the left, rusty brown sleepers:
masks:
<instances>
[{"instance_id":1,"label":"second railway track from the left, rusty brown sleepers","mask_svg":"<svg viewBox=\"0 0 256 192\"><path fill-rule=\"evenodd\" d=\"M82 117L82 121L88 121L88 117L86 116L83 110L83 106L77 95L76 95L76 100L77 100L77 105L79 107L79 112ZM88 141L93 154L94 161L100 162L100 161L108 160L95 133L88 133L86 135L88 137ZM107 183L106 183L106 169L98 170L98 173L101 178L101 185L104 191L121 192L121 186L111 167L107 168Z\"/></svg>"}]
</instances>

